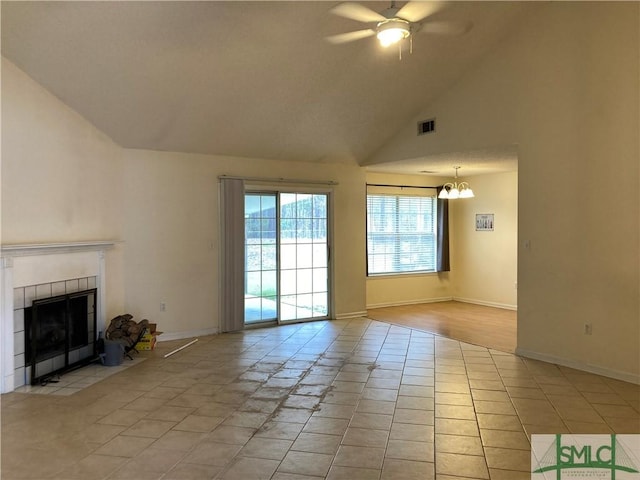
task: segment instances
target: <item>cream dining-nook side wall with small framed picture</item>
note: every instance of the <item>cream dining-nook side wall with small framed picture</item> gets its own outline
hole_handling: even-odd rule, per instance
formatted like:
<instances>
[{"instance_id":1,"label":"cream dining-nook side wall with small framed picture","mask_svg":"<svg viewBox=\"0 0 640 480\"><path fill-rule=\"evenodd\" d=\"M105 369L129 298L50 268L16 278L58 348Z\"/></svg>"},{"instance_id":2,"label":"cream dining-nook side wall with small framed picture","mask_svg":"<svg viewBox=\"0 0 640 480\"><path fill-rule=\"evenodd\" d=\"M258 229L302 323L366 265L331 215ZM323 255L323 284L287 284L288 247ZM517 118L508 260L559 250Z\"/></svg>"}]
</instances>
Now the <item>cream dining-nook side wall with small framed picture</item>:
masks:
<instances>
[{"instance_id":1,"label":"cream dining-nook side wall with small framed picture","mask_svg":"<svg viewBox=\"0 0 640 480\"><path fill-rule=\"evenodd\" d=\"M451 275L456 300L515 309L518 305L518 174L478 175L474 198L451 205ZM476 231L478 213L494 214L494 230Z\"/></svg>"}]
</instances>

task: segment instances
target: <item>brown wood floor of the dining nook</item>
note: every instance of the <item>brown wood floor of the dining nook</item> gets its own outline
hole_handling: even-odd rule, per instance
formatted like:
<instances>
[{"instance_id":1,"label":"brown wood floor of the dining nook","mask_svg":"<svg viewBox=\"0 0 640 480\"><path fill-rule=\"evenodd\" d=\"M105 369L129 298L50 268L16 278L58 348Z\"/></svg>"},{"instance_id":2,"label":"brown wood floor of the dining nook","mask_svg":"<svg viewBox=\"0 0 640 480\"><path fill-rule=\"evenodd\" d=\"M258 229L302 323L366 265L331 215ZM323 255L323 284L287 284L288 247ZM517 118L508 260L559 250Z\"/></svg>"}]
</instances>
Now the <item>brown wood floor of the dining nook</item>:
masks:
<instances>
[{"instance_id":1,"label":"brown wood floor of the dining nook","mask_svg":"<svg viewBox=\"0 0 640 480\"><path fill-rule=\"evenodd\" d=\"M443 337L514 353L517 312L462 302L372 308L368 317Z\"/></svg>"}]
</instances>

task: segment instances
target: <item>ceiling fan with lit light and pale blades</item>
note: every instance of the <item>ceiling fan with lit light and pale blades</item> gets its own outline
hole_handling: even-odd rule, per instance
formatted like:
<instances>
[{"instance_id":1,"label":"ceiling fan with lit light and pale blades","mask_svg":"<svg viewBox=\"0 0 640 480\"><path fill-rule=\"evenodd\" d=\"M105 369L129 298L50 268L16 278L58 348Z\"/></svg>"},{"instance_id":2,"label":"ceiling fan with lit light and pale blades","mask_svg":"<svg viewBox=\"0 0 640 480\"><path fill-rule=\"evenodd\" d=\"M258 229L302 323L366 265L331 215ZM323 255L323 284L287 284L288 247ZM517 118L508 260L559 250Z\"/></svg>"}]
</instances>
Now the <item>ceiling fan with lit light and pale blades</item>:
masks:
<instances>
[{"instance_id":1,"label":"ceiling fan with lit light and pale blades","mask_svg":"<svg viewBox=\"0 0 640 480\"><path fill-rule=\"evenodd\" d=\"M470 28L469 22L425 21L427 17L439 12L446 6L442 1L411 1L401 8L392 1L391 6L382 12L376 12L355 2L344 2L330 10L334 15L349 18L357 22L370 23L370 28L354 32L340 33L327 37L327 41L341 44L375 35L383 47L411 40L415 33L433 33L441 35L461 35Z\"/></svg>"}]
</instances>

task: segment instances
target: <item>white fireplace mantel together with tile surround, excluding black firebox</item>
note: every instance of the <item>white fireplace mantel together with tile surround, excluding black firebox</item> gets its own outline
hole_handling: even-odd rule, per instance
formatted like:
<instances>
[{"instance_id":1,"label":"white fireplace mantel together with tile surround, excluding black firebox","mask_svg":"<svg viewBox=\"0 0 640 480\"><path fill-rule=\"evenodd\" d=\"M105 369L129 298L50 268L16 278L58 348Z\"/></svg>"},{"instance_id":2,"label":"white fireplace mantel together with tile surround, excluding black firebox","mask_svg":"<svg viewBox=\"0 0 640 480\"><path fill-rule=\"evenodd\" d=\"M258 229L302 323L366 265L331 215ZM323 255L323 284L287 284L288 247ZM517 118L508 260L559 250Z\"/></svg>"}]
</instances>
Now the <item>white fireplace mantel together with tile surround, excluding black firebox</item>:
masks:
<instances>
[{"instance_id":1,"label":"white fireplace mantel together with tile surround, excluding black firebox","mask_svg":"<svg viewBox=\"0 0 640 480\"><path fill-rule=\"evenodd\" d=\"M105 322L105 251L114 242L3 245L0 257L0 392L25 384L24 308L35 299L97 288Z\"/></svg>"}]
</instances>

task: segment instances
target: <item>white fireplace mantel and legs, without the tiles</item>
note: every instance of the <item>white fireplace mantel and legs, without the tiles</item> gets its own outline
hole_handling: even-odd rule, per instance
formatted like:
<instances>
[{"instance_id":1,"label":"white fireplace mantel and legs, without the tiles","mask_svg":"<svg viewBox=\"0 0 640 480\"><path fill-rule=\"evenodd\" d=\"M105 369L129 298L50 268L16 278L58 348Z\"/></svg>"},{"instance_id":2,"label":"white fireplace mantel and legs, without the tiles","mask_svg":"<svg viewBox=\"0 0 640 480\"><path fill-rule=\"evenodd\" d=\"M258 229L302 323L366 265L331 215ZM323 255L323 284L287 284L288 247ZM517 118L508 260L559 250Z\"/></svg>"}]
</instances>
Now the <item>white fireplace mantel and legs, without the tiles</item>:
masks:
<instances>
[{"instance_id":1,"label":"white fireplace mantel and legs, without the tiles","mask_svg":"<svg viewBox=\"0 0 640 480\"><path fill-rule=\"evenodd\" d=\"M105 251L116 243L104 240L0 246L0 392L15 388L14 288L95 276L97 317L99 324L104 323Z\"/></svg>"}]
</instances>

